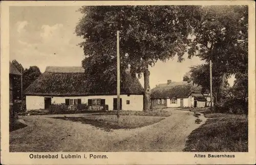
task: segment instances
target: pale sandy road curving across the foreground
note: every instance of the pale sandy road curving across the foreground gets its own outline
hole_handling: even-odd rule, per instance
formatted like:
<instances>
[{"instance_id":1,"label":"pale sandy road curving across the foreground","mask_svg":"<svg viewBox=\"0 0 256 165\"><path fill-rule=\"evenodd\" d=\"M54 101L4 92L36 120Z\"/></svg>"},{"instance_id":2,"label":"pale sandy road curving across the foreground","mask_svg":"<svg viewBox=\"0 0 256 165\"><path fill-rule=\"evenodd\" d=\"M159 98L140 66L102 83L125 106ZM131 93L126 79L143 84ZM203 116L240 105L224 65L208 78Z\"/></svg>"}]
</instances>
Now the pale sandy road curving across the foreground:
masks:
<instances>
[{"instance_id":1,"label":"pale sandy road curving across the foreground","mask_svg":"<svg viewBox=\"0 0 256 165\"><path fill-rule=\"evenodd\" d=\"M10 132L10 152L116 152L175 151L185 148L187 136L196 124L194 112L166 109L172 115L158 123L134 128L105 131L90 124L53 119L63 114L20 116L27 127ZM77 117L88 114L66 114Z\"/></svg>"}]
</instances>

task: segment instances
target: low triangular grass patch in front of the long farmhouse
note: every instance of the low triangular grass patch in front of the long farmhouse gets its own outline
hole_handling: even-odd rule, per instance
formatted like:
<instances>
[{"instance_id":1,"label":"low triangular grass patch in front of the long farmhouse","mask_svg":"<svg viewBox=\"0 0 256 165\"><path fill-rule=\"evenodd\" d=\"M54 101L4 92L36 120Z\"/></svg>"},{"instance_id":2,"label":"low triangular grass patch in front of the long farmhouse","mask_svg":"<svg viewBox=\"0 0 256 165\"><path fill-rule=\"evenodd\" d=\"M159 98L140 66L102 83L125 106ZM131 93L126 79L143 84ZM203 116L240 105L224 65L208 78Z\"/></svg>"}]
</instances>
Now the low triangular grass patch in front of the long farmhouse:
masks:
<instances>
[{"instance_id":1,"label":"low triangular grass patch in front of the long farmhouse","mask_svg":"<svg viewBox=\"0 0 256 165\"><path fill-rule=\"evenodd\" d=\"M133 129L144 127L160 122L164 117L154 116L129 116L121 115L119 119L115 115L88 115L84 117L52 117L54 119L69 120L72 122L81 122L91 124L105 131L111 129Z\"/></svg>"}]
</instances>

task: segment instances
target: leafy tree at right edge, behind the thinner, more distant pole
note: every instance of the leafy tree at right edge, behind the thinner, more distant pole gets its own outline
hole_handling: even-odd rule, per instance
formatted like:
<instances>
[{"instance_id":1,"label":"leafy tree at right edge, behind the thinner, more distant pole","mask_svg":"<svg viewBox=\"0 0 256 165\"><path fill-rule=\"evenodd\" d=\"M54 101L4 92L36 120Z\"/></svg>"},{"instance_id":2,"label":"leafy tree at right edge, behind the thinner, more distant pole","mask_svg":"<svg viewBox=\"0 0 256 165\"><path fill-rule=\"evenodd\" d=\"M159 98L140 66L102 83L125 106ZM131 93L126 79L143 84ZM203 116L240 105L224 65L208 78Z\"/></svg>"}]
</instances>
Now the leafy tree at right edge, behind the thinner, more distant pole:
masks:
<instances>
[{"instance_id":1,"label":"leafy tree at right edge, behind the thinner, more distant pole","mask_svg":"<svg viewBox=\"0 0 256 165\"><path fill-rule=\"evenodd\" d=\"M214 87L219 102L227 79L248 65L248 7L210 6L201 8L199 12L200 19L190 23L194 38L190 38L187 44L188 54L189 58L198 56L206 61L202 68L193 69L206 74L194 74L194 78L200 77L199 84L204 84L202 77L208 77L206 71L209 60L212 60L213 83L218 85Z\"/></svg>"}]
</instances>

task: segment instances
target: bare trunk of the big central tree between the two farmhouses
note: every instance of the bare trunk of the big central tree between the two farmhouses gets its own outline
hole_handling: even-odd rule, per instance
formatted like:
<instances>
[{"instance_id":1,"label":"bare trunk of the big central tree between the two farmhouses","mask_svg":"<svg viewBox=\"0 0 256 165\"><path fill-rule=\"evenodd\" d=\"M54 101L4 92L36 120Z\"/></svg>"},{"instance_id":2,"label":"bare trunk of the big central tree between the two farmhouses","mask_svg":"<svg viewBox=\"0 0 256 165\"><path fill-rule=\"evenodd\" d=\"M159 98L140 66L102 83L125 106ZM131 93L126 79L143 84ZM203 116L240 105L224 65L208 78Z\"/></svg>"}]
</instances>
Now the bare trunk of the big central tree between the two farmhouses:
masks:
<instances>
[{"instance_id":1,"label":"bare trunk of the big central tree between the two farmhouses","mask_svg":"<svg viewBox=\"0 0 256 165\"><path fill-rule=\"evenodd\" d=\"M148 66L144 69L144 96L143 96L143 111L150 110L150 71Z\"/></svg>"}]
</instances>

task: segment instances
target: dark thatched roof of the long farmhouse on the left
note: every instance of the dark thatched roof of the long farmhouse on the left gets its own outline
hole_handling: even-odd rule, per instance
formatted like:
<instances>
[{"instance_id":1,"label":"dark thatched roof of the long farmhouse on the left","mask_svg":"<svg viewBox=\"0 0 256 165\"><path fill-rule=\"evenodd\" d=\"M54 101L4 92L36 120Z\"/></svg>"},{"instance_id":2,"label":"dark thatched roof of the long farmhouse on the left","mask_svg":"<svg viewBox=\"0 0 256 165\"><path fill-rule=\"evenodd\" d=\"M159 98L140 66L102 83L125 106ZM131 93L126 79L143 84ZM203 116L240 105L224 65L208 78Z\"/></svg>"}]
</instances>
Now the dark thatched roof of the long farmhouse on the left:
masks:
<instances>
[{"instance_id":1,"label":"dark thatched roof of the long farmhouse on the left","mask_svg":"<svg viewBox=\"0 0 256 165\"><path fill-rule=\"evenodd\" d=\"M89 80L82 67L48 66L45 73L40 75L26 90L25 95L34 96L92 96L116 95L116 87L112 89L107 84L105 89L92 91ZM108 83L108 81L105 81ZM120 84L120 94L142 95L143 88L137 78L126 73Z\"/></svg>"}]
</instances>

